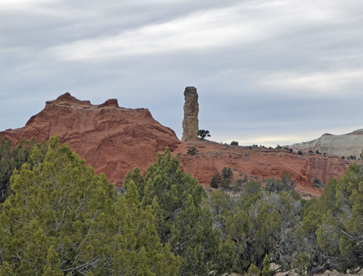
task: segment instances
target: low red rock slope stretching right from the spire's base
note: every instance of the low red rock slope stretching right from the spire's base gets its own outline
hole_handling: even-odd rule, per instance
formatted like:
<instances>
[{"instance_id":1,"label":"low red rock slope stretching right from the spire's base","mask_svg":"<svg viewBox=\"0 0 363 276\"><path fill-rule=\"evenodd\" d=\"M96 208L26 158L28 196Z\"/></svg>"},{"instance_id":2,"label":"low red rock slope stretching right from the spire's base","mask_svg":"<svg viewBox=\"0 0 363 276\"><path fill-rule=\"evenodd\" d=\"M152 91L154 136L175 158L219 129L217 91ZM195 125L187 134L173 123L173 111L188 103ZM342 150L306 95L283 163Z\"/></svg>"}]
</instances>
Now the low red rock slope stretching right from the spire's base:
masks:
<instances>
[{"instance_id":1,"label":"low red rock slope stretching right from the spire's base","mask_svg":"<svg viewBox=\"0 0 363 276\"><path fill-rule=\"evenodd\" d=\"M199 153L187 155L186 150L195 146ZM221 178L221 170L230 167L234 180L260 181L274 177L281 179L288 172L295 181L295 188L305 195L322 195L323 190L313 186L315 178L328 183L331 177L339 178L349 164L362 161L343 160L340 157L327 157L316 153L298 155L284 148L248 148L228 146L213 141L193 141L179 144L173 154L179 152L181 168L197 177L199 183L209 187L213 175Z\"/></svg>"}]
</instances>

